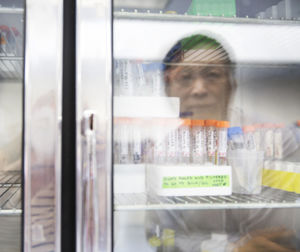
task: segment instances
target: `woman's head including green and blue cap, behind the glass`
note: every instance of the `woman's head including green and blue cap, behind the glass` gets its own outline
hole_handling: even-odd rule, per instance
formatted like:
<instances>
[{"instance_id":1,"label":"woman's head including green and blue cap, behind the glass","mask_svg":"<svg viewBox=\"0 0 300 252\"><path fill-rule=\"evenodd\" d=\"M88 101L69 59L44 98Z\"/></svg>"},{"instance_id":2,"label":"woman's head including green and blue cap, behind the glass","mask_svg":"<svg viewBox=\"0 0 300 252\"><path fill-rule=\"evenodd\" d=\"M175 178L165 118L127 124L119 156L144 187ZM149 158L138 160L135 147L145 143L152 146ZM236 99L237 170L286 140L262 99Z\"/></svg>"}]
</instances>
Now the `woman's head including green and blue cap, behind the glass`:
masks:
<instances>
[{"instance_id":1,"label":"woman's head including green and blue cap, behind the glass","mask_svg":"<svg viewBox=\"0 0 300 252\"><path fill-rule=\"evenodd\" d=\"M180 97L182 116L226 120L235 88L233 64L216 40L196 35L178 42L164 59L166 92Z\"/></svg>"}]
</instances>

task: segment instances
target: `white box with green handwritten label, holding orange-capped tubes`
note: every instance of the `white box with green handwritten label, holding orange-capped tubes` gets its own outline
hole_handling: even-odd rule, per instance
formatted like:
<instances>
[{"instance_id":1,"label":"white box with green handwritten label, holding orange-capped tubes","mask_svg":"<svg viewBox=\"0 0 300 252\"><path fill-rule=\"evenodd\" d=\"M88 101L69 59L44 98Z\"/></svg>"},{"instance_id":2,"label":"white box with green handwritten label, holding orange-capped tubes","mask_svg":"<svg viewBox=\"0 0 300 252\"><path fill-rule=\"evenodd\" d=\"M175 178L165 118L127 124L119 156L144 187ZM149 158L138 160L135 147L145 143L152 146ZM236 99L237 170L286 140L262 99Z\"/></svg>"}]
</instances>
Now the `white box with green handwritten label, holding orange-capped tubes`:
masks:
<instances>
[{"instance_id":1,"label":"white box with green handwritten label, holding orange-capped tubes","mask_svg":"<svg viewBox=\"0 0 300 252\"><path fill-rule=\"evenodd\" d=\"M230 166L147 165L147 191L159 196L231 195Z\"/></svg>"}]
</instances>

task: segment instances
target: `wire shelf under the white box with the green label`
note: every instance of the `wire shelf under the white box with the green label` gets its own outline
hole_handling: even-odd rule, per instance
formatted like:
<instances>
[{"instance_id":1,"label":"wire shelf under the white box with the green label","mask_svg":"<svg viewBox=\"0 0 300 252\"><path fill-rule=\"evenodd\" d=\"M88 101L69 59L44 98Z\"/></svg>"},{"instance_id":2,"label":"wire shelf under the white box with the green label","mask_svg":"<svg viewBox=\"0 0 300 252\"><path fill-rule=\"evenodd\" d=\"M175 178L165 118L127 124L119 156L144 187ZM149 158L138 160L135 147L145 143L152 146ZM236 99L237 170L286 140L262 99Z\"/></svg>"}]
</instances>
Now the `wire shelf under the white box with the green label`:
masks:
<instances>
[{"instance_id":1,"label":"wire shelf under the white box with the green label","mask_svg":"<svg viewBox=\"0 0 300 252\"><path fill-rule=\"evenodd\" d=\"M114 210L196 210L300 207L300 195L264 187L261 194L230 196L160 197L139 194L115 194Z\"/></svg>"}]
</instances>

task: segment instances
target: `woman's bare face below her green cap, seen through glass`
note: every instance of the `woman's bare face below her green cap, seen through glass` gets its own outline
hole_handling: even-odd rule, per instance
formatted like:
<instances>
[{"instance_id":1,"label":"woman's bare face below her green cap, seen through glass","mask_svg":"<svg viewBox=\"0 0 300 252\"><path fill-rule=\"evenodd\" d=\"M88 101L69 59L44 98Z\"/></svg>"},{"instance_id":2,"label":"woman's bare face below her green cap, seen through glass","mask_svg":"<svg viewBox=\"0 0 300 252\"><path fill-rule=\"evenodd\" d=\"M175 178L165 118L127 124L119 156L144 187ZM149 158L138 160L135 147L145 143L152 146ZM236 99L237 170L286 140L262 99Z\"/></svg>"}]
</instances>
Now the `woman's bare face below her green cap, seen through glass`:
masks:
<instances>
[{"instance_id":1,"label":"woman's bare face below her green cap, seen through glass","mask_svg":"<svg viewBox=\"0 0 300 252\"><path fill-rule=\"evenodd\" d=\"M168 96L180 97L180 113L195 119L227 119L230 69L222 62L173 66L166 70Z\"/></svg>"}]
</instances>

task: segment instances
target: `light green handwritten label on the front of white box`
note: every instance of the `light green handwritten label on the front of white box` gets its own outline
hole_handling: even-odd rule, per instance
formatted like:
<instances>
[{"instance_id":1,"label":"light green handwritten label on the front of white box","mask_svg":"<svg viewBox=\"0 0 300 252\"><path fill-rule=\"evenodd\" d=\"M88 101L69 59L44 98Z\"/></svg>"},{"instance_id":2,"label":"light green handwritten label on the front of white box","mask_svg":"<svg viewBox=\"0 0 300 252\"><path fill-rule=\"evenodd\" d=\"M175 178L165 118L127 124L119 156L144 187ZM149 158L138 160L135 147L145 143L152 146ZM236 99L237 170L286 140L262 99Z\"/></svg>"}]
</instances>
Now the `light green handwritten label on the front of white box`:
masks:
<instances>
[{"instance_id":1,"label":"light green handwritten label on the front of white box","mask_svg":"<svg viewBox=\"0 0 300 252\"><path fill-rule=\"evenodd\" d=\"M229 175L168 176L163 177L162 188L195 188L229 186Z\"/></svg>"}]
</instances>

